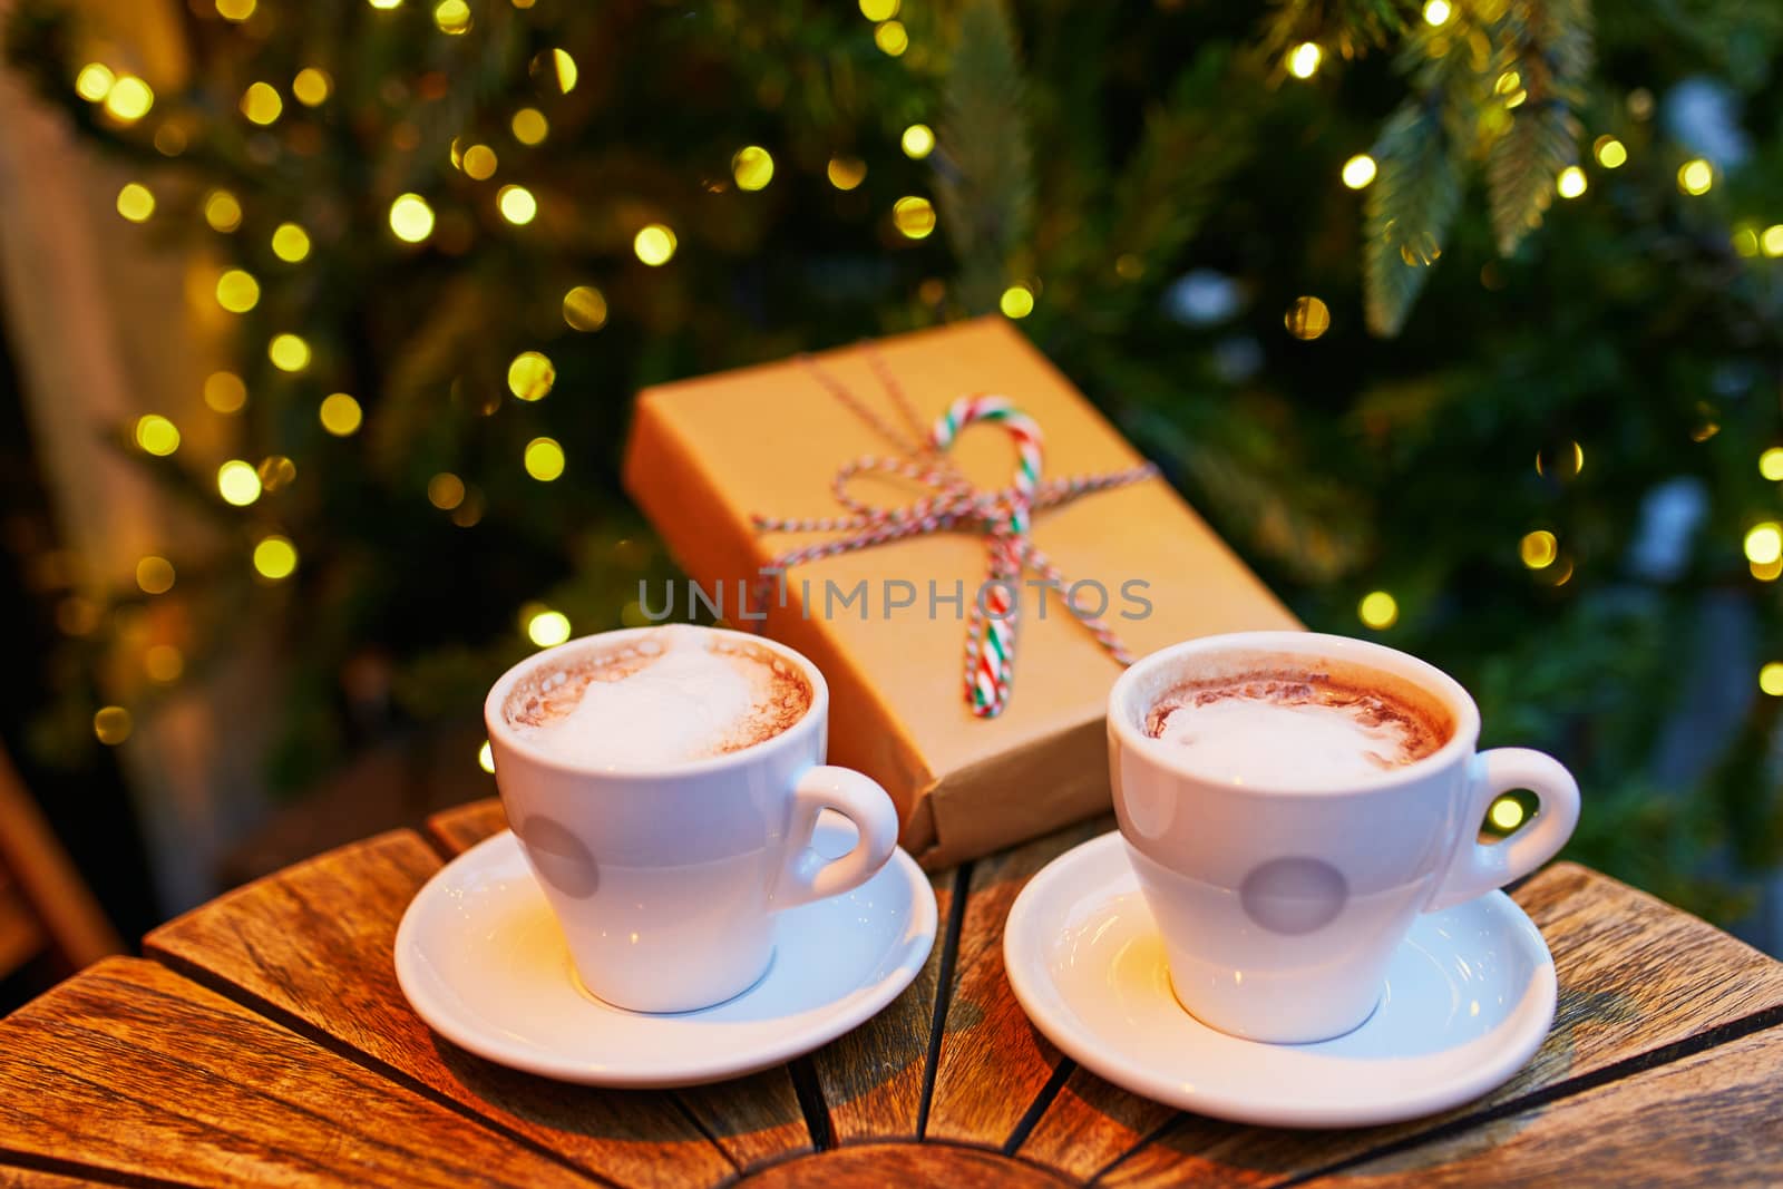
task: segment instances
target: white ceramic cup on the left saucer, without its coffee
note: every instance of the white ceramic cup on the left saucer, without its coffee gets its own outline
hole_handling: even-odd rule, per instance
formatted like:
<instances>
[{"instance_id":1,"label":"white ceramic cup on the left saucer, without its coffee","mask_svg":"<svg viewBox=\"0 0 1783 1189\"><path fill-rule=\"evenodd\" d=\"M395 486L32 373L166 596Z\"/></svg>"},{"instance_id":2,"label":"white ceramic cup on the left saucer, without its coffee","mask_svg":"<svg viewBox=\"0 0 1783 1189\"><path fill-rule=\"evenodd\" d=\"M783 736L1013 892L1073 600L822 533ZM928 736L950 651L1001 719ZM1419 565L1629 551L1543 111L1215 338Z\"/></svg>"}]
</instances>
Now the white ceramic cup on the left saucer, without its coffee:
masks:
<instances>
[{"instance_id":1,"label":"white ceramic cup on the left saucer, without its coffee","mask_svg":"<svg viewBox=\"0 0 1783 1189\"><path fill-rule=\"evenodd\" d=\"M767 973L777 913L850 891L884 866L899 818L875 781L824 763L824 674L761 636L697 629L783 658L811 688L802 718L742 750L640 768L578 765L508 722L508 695L533 670L653 631L585 636L521 661L489 692L483 720L508 824L583 986L631 1011L694 1011ZM859 831L838 859L811 849L824 809Z\"/></svg>"}]
</instances>

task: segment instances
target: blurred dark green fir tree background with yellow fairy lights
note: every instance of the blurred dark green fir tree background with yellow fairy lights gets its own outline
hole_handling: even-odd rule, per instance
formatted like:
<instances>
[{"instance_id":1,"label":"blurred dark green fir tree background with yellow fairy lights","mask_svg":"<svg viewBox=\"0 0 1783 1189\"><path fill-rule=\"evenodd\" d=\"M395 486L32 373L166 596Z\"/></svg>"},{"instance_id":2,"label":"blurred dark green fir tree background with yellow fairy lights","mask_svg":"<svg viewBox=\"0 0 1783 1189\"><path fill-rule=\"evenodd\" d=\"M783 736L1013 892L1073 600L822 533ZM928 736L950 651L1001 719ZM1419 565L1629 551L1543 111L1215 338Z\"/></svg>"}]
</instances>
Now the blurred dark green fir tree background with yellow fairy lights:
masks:
<instances>
[{"instance_id":1,"label":"blurred dark green fir tree background with yellow fairy lights","mask_svg":"<svg viewBox=\"0 0 1783 1189\"><path fill-rule=\"evenodd\" d=\"M674 572L637 389L991 314L1783 952L1778 5L0 18L0 827L100 931L494 791L489 683Z\"/></svg>"}]
</instances>

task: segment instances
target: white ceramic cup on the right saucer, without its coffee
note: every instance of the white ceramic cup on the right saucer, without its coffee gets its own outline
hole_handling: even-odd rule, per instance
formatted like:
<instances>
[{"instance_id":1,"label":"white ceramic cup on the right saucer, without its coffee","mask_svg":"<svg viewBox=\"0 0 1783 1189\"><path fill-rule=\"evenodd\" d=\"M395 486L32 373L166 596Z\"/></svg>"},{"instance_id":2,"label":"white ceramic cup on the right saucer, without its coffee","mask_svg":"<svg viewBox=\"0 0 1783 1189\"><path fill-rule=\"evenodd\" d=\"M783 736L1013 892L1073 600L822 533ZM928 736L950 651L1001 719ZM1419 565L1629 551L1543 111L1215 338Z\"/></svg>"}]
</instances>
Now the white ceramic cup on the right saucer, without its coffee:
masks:
<instances>
[{"instance_id":1,"label":"white ceramic cup on the right saucer, without its coffee","mask_svg":"<svg viewBox=\"0 0 1783 1189\"><path fill-rule=\"evenodd\" d=\"M1145 733L1175 685L1316 672L1321 661L1421 693L1450 715L1448 742L1378 775L1271 786L1196 770L1186 749ZM1412 918L1530 873L1578 824L1578 784L1557 759L1521 747L1476 752L1480 709L1467 692L1366 640L1257 631L1177 644L1120 676L1107 726L1114 813L1177 1000L1250 1039L1305 1043L1359 1027ZM1541 799L1533 820L1480 843L1487 808L1519 788Z\"/></svg>"}]
</instances>

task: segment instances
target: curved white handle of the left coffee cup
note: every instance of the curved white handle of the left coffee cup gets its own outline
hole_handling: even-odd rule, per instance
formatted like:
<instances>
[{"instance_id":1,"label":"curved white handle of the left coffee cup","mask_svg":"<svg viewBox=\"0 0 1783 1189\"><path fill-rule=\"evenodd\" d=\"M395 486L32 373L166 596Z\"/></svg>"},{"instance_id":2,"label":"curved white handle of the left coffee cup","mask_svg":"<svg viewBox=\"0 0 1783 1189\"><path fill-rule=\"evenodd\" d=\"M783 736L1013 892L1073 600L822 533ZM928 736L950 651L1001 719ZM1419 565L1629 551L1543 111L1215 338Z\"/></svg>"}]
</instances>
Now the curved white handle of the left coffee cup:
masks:
<instances>
[{"instance_id":1,"label":"curved white handle of the left coffee cup","mask_svg":"<svg viewBox=\"0 0 1783 1189\"><path fill-rule=\"evenodd\" d=\"M811 847L817 816L824 809L834 809L859 831L854 850L840 859L826 859ZM786 868L774 890L776 911L834 897L872 879L897 847L897 806L872 777L852 768L817 765L793 786L786 838Z\"/></svg>"}]
</instances>

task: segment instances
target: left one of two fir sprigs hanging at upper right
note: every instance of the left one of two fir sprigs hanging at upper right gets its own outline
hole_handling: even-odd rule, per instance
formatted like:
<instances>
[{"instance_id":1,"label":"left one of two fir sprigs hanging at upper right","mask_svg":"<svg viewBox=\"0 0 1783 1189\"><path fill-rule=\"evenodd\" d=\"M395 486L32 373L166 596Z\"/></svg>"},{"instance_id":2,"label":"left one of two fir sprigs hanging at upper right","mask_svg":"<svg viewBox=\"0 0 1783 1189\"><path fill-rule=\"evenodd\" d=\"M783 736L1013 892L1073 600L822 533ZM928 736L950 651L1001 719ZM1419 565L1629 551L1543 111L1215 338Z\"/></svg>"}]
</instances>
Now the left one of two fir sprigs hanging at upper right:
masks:
<instances>
[{"instance_id":1,"label":"left one of two fir sprigs hanging at upper right","mask_svg":"<svg viewBox=\"0 0 1783 1189\"><path fill-rule=\"evenodd\" d=\"M1364 308L1368 328L1393 337L1442 255L1460 209L1462 168L1430 103L1407 103L1387 121L1375 160L1380 171L1364 212Z\"/></svg>"}]
</instances>

